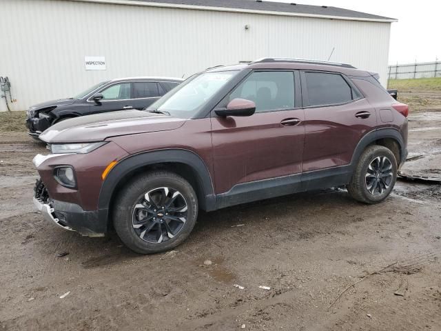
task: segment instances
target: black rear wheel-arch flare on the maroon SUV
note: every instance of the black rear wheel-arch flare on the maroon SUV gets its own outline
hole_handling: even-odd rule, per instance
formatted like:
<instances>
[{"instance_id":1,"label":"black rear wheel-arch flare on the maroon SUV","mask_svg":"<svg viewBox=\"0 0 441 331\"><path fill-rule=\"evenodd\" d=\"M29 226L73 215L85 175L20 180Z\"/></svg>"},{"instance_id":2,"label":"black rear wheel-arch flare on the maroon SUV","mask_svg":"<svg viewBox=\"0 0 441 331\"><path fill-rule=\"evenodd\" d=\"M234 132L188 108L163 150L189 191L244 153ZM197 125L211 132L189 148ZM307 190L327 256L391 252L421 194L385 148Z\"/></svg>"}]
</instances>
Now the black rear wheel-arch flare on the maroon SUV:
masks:
<instances>
[{"instance_id":1,"label":"black rear wheel-arch flare on the maroon SUV","mask_svg":"<svg viewBox=\"0 0 441 331\"><path fill-rule=\"evenodd\" d=\"M362 139L358 141L356 149L352 154L352 159L351 159L352 168L356 166L358 159L360 159L362 152L367 148L367 146L373 143L373 141L383 138L391 138L398 143L398 147L400 148L401 163L403 163L407 157L407 148L406 148L406 143L404 143L402 134L400 133L400 131L396 129L384 128L384 129L373 130L365 134L362 137Z\"/></svg>"}]
</instances>

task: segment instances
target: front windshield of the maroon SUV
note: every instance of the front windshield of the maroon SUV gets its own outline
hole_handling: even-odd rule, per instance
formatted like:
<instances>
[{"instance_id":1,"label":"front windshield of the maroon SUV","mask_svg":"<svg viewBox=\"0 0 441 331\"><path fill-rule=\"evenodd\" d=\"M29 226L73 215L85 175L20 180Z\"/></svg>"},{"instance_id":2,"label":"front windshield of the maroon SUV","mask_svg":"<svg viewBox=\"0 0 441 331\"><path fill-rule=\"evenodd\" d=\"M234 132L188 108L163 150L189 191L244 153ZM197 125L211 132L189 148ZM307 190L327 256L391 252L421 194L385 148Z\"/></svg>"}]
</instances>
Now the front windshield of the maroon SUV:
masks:
<instances>
[{"instance_id":1,"label":"front windshield of the maroon SUV","mask_svg":"<svg viewBox=\"0 0 441 331\"><path fill-rule=\"evenodd\" d=\"M189 119L237 73L238 70L204 72L195 75L156 101L147 110L166 112L175 117Z\"/></svg>"}]
</instances>

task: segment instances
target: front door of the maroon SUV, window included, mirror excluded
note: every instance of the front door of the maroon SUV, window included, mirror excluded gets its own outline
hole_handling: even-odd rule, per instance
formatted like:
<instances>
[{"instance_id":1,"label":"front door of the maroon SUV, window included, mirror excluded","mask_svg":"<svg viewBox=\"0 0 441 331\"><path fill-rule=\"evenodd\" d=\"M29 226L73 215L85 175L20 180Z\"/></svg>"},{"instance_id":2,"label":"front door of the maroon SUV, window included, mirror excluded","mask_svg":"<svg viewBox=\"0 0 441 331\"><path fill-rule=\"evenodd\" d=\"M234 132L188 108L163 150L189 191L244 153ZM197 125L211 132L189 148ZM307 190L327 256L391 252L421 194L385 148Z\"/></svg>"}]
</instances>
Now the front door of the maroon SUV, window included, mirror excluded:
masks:
<instances>
[{"instance_id":1,"label":"front door of the maroon SUV, window included, mirror excluded","mask_svg":"<svg viewBox=\"0 0 441 331\"><path fill-rule=\"evenodd\" d=\"M218 117L213 112L216 193L228 192L246 183L261 184L258 190L262 191L278 183L296 181L289 177L301 172L305 138L298 72L254 71L218 107L226 107L236 98L254 101L256 112L249 117ZM269 181L265 181L267 179ZM292 183L288 185L289 190L294 189ZM245 188L245 192L254 190L256 185ZM266 192L258 199L273 196L274 192ZM247 198L244 201L256 200Z\"/></svg>"}]
</instances>

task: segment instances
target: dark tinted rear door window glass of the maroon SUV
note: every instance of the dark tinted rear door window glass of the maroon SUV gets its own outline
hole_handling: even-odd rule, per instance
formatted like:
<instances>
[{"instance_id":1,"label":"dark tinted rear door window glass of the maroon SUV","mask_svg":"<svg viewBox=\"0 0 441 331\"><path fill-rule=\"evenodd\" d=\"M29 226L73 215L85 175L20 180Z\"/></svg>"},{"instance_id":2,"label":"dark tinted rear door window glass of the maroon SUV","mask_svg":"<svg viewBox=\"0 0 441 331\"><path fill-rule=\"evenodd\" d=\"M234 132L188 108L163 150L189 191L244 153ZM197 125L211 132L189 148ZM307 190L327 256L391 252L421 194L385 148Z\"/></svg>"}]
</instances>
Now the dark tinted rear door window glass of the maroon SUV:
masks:
<instances>
[{"instance_id":1,"label":"dark tinted rear door window glass of the maroon SUV","mask_svg":"<svg viewBox=\"0 0 441 331\"><path fill-rule=\"evenodd\" d=\"M305 72L309 106L325 106L351 101L352 90L340 74Z\"/></svg>"}]
</instances>

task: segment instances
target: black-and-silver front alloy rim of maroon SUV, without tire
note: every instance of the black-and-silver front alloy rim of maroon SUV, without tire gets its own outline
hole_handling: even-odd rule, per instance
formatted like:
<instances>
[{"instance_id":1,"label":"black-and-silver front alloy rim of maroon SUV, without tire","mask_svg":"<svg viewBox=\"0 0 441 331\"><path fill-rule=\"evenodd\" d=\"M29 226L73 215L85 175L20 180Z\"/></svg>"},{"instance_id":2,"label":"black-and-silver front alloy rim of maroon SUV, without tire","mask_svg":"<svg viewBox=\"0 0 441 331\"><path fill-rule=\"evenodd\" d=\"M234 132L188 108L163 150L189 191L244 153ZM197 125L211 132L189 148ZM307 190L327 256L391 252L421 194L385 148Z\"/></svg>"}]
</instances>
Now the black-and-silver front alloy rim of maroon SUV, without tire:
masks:
<instances>
[{"instance_id":1,"label":"black-and-silver front alloy rim of maroon SUV, without tire","mask_svg":"<svg viewBox=\"0 0 441 331\"><path fill-rule=\"evenodd\" d=\"M188 206L183 194L174 188L154 188L136 201L132 225L148 243L169 241L187 221Z\"/></svg>"}]
</instances>

